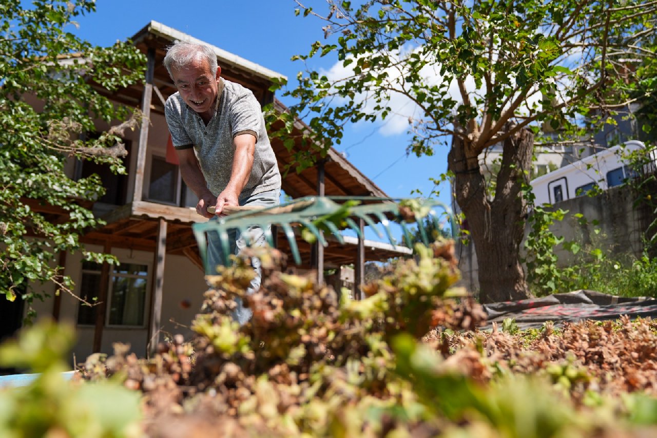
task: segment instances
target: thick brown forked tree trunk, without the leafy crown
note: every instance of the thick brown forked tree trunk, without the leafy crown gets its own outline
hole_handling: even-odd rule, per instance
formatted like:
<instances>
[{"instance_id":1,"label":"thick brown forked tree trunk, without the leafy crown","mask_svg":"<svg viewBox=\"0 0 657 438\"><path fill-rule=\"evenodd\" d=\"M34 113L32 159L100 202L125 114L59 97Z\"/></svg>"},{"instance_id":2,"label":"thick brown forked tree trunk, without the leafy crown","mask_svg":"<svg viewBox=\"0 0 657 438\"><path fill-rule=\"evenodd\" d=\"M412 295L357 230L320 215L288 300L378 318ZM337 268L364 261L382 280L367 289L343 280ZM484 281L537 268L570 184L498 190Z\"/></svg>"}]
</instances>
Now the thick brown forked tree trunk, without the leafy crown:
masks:
<instances>
[{"instance_id":1,"label":"thick brown forked tree trunk, without the leafy crown","mask_svg":"<svg viewBox=\"0 0 657 438\"><path fill-rule=\"evenodd\" d=\"M455 137L447 158L455 174L456 201L465 214L479 269L480 301L526 299L530 293L520 264L527 217L521 183L532 162L533 134L520 130L504 141L495 197L486 196L478 154Z\"/></svg>"}]
</instances>

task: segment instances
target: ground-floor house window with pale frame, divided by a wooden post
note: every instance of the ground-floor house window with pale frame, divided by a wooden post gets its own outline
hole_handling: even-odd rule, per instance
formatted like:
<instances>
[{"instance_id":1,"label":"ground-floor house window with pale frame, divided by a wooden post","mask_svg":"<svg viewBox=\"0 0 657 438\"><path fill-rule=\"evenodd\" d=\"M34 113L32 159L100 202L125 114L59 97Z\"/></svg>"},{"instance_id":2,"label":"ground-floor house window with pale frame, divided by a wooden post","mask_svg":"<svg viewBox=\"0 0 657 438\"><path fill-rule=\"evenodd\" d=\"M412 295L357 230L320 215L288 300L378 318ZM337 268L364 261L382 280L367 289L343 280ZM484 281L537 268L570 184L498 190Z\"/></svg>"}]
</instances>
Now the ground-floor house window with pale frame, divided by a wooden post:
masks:
<instances>
[{"instance_id":1,"label":"ground-floor house window with pale frame, divided by a wooden post","mask_svg":"<svg viewBox=\"0 0 657 438\"><path fill-rule=\"evenodd\" d=\"M101 264L83 262L80 297L94 304L101 289ZM122 263L114 266L107 297L107 326L144 326L148 295L148 266ZM79 303L78 324L96 324L97 306Z\"/></svg>"}]
</instances>

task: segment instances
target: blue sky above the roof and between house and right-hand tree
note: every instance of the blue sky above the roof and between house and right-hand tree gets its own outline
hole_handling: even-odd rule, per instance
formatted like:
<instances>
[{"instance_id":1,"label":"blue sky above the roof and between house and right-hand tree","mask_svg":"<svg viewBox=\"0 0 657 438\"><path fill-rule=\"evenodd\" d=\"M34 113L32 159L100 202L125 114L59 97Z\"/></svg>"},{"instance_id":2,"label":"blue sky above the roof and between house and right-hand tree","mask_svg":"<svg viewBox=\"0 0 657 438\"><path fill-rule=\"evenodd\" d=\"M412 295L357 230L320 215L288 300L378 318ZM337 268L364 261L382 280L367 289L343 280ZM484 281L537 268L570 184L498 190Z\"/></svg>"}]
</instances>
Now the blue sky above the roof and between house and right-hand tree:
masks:
<instances>
[{"instance_id":1,"label":"blue sky above the roof and between house and right-hand tree","mask_svg":"<svg viewBox=\"0 0 657 438\"><path fill-rule=\"evenodd\" d=\"M324 0L302 3L326 11ZM311 43L323 39L323 22L295 16L293 0L97 0L96 5L97 12L79 18L78 30L72 30L93 44L111 45L156 20L284 74L290 85L304 68L290 57L307 53ZM309 65L330 70L336 61L325 57ZM348 160L390 197L411 197L415 189L430 193L434 183L429 178L438 178L446 170L447 149L437 149L432 157L405 157L408 137L398 132L390 123L365 122L349 126L342 144L335 147L346 151ZM449 205L448 185L437 188L440 201Z\"/></svg>"}]
</instances>

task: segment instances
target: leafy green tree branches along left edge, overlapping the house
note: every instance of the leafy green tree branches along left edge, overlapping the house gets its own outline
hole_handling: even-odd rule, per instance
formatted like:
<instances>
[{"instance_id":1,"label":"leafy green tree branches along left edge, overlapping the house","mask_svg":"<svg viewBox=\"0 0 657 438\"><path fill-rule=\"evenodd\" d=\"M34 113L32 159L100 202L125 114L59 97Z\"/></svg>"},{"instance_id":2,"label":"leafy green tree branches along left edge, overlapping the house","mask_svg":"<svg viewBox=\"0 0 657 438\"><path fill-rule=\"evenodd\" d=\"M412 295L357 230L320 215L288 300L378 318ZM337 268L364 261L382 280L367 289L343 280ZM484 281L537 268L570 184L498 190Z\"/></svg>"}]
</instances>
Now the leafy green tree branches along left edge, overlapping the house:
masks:
<instances>
[{"instance_id":1,"label":"leafy green tree branches along left edge, overlapping the house","mask_svg":"<svg viewBox=\"0 0 657 438\"><path fill-rule=\"evenodd\" d=\"M94 159L124 171L120 129L78 137L96 131L94 119L129 118L130 110L94 87L112 91L140 80L145 57L129 43L93 47L72 34L74 18L93 11L90 0L0 2L0 295L10 301L41 297L36 288L49 281L58 289L71 285L58 275L55 256L83 249L81 231L101 224L81 206L102 195L99 178L72 180L66 160ZM35 211L39 205L66 216L51 222Z\"/></svg>"}]
</instances>

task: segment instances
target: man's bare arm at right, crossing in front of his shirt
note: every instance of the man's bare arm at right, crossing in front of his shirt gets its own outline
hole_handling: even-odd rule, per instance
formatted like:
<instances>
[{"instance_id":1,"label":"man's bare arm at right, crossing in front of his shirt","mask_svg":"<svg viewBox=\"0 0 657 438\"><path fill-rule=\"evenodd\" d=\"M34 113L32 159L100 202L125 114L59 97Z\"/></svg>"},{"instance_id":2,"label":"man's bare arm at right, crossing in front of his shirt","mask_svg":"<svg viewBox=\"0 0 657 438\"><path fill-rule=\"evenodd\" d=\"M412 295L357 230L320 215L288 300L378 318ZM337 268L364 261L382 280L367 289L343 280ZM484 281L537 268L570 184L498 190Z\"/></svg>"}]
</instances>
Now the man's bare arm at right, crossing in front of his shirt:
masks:
<instances>
[{"instance_id":1,"label":"man's bare arm at right, crossing in front of his shirt","mask_svg":"<svg viewBox=\"0 0 657 438\"><path fill-rule=\"evenodd\" d=\"M248 182L253 168L253 158L256 153L256 137L252 134L235 135L235 157L233 158L233 169L231 180L226 188L217 196L216 212L221 213L224 205L239 205L238 198L242 189Z\"/></svg>"}]
</instances>

